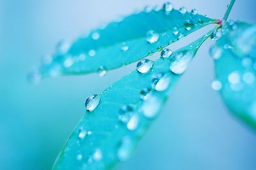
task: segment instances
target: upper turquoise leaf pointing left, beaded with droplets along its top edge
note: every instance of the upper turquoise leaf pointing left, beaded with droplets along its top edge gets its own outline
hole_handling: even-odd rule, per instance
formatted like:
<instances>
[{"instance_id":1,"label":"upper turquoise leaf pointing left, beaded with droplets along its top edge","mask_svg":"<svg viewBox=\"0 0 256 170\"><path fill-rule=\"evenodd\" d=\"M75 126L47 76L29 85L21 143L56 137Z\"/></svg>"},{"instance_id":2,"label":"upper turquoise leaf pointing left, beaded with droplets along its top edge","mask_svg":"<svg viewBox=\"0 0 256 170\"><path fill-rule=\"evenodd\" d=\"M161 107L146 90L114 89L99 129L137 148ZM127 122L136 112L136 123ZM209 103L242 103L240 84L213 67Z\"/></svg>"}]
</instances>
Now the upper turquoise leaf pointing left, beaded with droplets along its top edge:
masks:
<instances>
[{"instance_id":1,"label":"upper turquoise leaf pointing left, beaded with droplets along its top edge","mask_svg":"<svg viewBox=\"0 0 256 170\"><path fill-rule=\"evenodd\" d=\"M104 75L107 70L143 59L191 32L217 22L196 11L192 14L182 8L181 13L174 10L172 4L166 5L164 9L167 11L147 9L93 30L72 44L59 43L56 52L43 59L31 78L97 71Z\"/></svg>"}]
</instances>

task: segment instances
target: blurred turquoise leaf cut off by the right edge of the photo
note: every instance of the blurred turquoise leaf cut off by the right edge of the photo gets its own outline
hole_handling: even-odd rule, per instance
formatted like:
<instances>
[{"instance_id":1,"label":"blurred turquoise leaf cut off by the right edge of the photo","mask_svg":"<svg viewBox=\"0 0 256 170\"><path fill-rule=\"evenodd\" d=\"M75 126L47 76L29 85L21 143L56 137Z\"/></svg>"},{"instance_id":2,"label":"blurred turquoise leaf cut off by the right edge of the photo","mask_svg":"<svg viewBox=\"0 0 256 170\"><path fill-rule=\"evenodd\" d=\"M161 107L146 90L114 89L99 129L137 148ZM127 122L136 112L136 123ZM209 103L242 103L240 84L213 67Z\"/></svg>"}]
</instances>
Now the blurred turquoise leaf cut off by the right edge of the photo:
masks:
<instances>
[{"instance_id":1,"label":"blurred turquoise leaf cut off by the right edge of the photo","mask_svg":"<svg viewBox=\"0 0 256 170\"><path fill-rule=\"evenodd\" d=\"M256 25L228 22L210 52L217 79L212 85L234 115L256 128Z\"/></svg>"}]
</instances>

